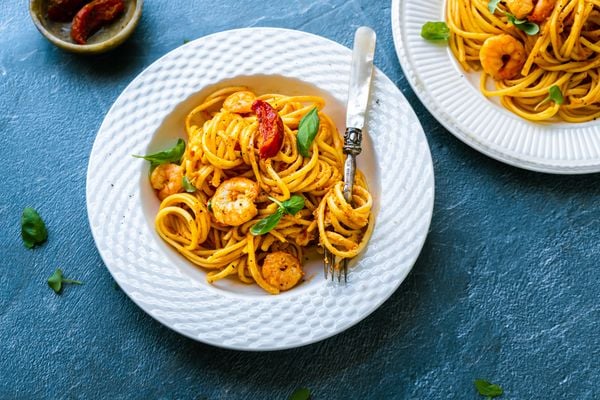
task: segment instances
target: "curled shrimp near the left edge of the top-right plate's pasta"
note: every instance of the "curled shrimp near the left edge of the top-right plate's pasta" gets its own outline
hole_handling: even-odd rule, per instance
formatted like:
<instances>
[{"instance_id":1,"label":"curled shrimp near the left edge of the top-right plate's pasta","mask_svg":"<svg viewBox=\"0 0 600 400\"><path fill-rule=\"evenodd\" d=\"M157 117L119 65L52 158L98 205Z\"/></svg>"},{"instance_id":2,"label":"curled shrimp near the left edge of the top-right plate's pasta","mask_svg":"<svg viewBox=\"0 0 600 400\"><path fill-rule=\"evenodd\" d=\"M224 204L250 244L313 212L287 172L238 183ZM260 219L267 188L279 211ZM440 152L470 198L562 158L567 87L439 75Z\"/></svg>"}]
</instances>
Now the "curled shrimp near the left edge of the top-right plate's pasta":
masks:
<instances>
[{"instance_id":1,"label":"curled shrimp near the left edge of the top-right plate's pasta","mask_svg":"<svg viewBox=\"0 0 600 400\"><path fill-rule=\"evenodd\" d=\"M525 47L514 37L502 34L486 39L479 51L483 70L500 81L519 75L527 60Z\"/></svg>"}]
</instances>

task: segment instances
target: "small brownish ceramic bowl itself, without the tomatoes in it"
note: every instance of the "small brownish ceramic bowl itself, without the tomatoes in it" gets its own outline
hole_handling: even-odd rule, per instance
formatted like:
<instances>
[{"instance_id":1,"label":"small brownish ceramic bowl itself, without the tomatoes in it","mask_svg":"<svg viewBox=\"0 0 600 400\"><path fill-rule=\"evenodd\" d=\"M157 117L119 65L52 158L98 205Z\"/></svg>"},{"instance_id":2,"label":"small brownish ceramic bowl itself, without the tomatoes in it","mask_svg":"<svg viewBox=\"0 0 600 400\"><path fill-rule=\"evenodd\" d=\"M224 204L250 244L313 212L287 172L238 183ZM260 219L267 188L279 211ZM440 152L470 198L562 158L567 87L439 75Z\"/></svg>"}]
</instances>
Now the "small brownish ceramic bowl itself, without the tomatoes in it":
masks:
<instances>
[{"instance_id":1,"label":"small brownish ceramic bowl itself, without the tomatoes in it","mask_svg":"<svg viewBox=\"0 0 600 400\"><path fill-rule=\"evenodd\" d=\"M71 22L56 22L46 14L48 0L31 0L29 12L36 28L54 45L79 54L99 54L123 43L135 30L142 15L144 0L125 0L125 12L116 21L89 37L87 44L71 39Z\"/></svg>"}]
</instances>

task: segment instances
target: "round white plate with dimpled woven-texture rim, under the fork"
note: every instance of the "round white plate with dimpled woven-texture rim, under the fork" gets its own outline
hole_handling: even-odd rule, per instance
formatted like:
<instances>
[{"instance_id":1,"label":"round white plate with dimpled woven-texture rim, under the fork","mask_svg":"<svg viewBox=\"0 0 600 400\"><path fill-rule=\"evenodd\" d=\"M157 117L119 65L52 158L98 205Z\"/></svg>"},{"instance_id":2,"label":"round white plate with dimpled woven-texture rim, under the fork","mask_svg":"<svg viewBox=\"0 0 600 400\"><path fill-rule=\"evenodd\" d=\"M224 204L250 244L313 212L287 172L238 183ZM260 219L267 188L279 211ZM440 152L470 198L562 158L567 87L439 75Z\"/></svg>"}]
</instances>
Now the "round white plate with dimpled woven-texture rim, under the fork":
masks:
<instances>
[{"instance_id":1,"label":"round white plate with dimpled woven-texture rim, under the fork","mask_svg":"<svg viewBox=\"0 0 600 400\"><path fill-rule=\"evenodd\" d=\"M131 157L183 137L183 119L215 87L245 83L257 92L324 96L343 132L351 52L303 32L254 28L188 43L142 72L108 112L92 149L87 208L98 250L123 290L173 330L216 346L274 350L347 329L404 280L425 241L433 208L433 167L419 120L376 71L359 166L375 199L376 228L349 284L326 282L307 265L307 282L278 296L234 280L211 286L205 273L154 230L159 203L148 163Z\"/></svg>"}]
</instances>

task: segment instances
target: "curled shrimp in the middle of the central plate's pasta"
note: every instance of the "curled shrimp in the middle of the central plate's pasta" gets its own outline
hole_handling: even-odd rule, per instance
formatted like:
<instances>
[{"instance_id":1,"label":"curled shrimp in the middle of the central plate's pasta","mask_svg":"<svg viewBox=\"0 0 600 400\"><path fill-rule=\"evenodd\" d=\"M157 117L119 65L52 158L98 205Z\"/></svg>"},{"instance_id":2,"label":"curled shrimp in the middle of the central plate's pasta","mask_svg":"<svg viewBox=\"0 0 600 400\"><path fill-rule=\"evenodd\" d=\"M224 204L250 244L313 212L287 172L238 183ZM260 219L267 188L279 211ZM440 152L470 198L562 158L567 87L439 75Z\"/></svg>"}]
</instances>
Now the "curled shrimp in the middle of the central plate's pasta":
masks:
<instances>
[{"instance_id":1,"label":"curled shrimp in the middle of the central plate's pasta","mask_svg":"<svg viewBox=\"0 0 600 400\"><path fill-rule=\"evenodd\" d=\"M235 177L221 183L210 200L215 219L230 226L250 221L258 214L254 204L258 191L258 183L248 178Z\"/></svg>"}]
</instances>

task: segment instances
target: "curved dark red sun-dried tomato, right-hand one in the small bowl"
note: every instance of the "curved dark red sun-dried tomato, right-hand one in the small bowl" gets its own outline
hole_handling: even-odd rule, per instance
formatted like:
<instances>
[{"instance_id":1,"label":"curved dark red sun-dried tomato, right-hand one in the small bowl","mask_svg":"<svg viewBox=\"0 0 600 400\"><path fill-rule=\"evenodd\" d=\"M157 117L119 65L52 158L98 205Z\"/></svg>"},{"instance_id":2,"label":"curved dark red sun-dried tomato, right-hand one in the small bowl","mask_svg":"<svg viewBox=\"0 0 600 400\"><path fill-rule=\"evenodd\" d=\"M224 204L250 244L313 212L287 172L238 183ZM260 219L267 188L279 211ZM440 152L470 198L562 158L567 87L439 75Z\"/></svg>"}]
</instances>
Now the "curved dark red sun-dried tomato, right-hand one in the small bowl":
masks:
<instances>
[{"instance_id":1,"label":"curved dark red sun-dried tomato, right-hand one in the small bowl","mask_svg":"<svg viewBox=\"0 0 600 400\"><path fill-rule=\"evenodd\" d=\"M75 42L85 44L90 35L114 21L123 11L123 0L94 0L79 10L73 18L71 37Z\"/></svg>"}]
</instances>

